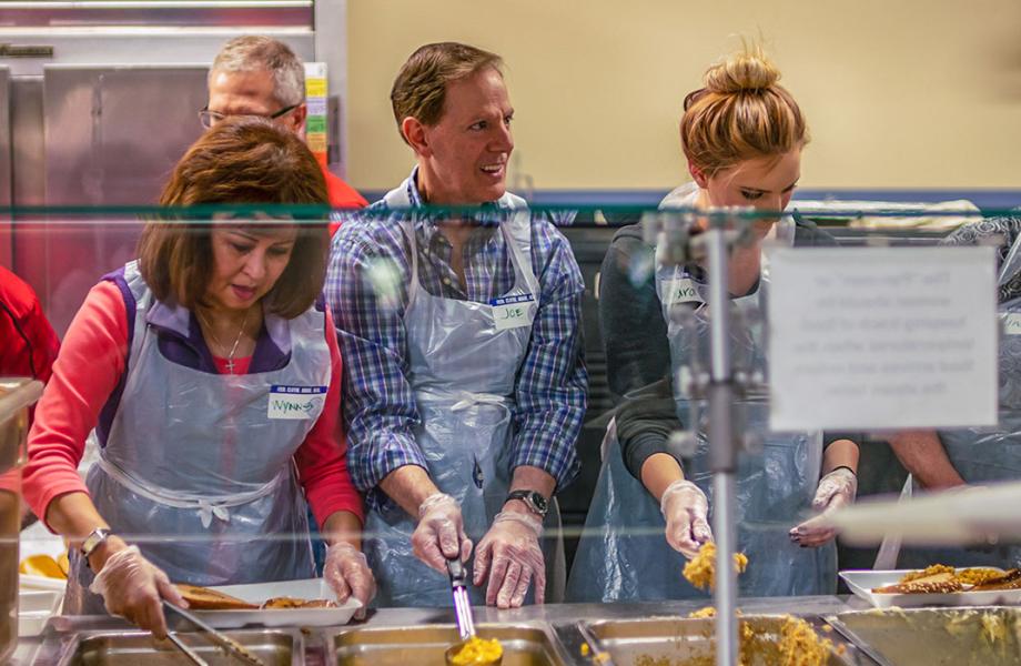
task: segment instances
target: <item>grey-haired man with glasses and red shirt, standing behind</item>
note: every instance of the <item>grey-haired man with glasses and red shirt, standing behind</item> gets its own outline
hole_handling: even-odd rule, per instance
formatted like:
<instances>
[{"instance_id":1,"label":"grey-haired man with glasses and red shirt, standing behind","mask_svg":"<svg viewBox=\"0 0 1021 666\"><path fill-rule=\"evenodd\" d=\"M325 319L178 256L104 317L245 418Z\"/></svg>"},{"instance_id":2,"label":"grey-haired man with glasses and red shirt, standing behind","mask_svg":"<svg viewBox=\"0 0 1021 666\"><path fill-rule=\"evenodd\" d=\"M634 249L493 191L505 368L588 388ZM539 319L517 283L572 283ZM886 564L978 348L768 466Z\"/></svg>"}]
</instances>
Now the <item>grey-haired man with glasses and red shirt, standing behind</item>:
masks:
<instances>
[{"instance_id":1,"label":"grey-haired man with glasses and red shirt, standing behind","mask_svg":"<svg viewBox=\"0 0 1021 666\"><path fill-rule=\"evenodd\" d=\"M209 72L209 103L200 114L204 127L228 115L262 115L304 138L307 113L305 68L287 44L270 37L244 36L229 41L216 54ZM325 167L323 175L331 206L367 204Z\"/></svg>"}]
</instances>

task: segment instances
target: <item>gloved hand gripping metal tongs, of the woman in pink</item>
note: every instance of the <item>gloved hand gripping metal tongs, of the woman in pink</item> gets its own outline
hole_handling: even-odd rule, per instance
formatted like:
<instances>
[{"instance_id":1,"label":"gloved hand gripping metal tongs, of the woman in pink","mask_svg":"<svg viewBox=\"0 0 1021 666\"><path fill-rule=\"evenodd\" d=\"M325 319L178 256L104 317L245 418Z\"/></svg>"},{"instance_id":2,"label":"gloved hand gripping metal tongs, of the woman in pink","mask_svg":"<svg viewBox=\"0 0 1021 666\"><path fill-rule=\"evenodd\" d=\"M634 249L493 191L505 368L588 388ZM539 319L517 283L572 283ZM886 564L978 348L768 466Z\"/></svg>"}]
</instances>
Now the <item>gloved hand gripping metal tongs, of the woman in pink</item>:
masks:
<instances>
[{"instance_id":1,"label":"gloved hand gripping metal tongs, of the woman in pink","mask_svg":"<svg viewBox=\"0 0 1021 666\"><path fill-rule=\"evenodd\" d=\"M107 558L89 589L102 595L112 615L125 617L156 638L166 637L162 599L188 607L163 569L145 559L138 546L128 546Z\"/></svg>"}]
</instances>

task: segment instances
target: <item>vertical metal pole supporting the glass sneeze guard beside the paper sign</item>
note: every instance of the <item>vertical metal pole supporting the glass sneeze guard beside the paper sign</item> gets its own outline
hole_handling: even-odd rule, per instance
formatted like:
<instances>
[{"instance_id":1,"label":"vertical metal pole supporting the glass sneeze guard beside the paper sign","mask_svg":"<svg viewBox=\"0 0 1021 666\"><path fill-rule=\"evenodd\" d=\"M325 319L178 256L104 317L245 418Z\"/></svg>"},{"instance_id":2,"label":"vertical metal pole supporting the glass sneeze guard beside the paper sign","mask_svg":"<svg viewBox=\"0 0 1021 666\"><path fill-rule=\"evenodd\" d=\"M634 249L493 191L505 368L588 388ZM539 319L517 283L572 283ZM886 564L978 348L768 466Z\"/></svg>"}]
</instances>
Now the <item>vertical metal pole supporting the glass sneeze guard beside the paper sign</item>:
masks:
<instances>
[{"instance_id":1,"label":"vertical metal pole supporting the glass sneeze guard beside the paper sign","mask_svg":"<svg viewBox=\"0 0 1021 666\"><path fill-rule=\"evenodd\" d=\"M706 232L709 271L709 466L712 470L714 534L716 536L716 664L736 666L737 574L734 571L736 541L734 475L737 447L731 407L734 373L730 365L730 297L727 284L729 253L725 236L728 220L712 215Z\"/></svg>"}]
</instances>

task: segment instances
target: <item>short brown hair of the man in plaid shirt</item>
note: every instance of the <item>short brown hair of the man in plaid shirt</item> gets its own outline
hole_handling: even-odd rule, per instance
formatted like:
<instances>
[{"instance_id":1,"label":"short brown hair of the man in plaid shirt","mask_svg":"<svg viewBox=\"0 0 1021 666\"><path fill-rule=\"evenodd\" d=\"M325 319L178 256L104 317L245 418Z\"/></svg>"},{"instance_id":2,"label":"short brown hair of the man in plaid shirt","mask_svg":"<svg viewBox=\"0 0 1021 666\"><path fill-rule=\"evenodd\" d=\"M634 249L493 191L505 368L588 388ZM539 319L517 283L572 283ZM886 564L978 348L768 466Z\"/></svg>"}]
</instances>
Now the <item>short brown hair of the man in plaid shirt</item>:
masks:
<instances>
[{"instance_id":1,"label":"short brown hair of the man in plaid shirt","mask_svg":"<svg viewBox=\"0 0 1021 666\"><path fill-rule=\"evenodd\" d=\"M458 42L438 42L419 47L397 72L390 101L401 139L407 143L401 123L415 118L432 127L443 118L446 85L485 68L501 71L503 60L496 53Z\"/></svg>"}]
</instances>

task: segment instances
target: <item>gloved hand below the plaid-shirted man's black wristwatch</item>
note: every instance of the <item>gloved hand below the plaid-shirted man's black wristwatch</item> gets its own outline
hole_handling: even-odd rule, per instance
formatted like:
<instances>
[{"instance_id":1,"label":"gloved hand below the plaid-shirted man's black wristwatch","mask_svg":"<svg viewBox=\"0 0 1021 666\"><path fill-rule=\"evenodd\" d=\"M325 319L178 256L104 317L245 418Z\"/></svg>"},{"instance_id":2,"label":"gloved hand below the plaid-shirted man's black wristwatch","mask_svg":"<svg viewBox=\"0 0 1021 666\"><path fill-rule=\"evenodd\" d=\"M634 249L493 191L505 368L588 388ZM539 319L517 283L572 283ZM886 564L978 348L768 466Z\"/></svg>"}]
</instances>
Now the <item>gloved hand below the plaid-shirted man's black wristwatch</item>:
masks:
<instances>
[{"instance_id":1,"label":"gloved hand below the plaid-shirted man's black wristwatch","mask_svg":"<svg viewBox=\"0 0 1021 666\"><path fill-rule=\"evenodd\" d=\"M504 511L496 514L475 553L475 586L486 583L486 604L518 608L535 577L535 603L546 598L546 561L539 537L543 522L529 514ZM492 566L491 566L492 565Z\"/></svg>"}]
</instances>

